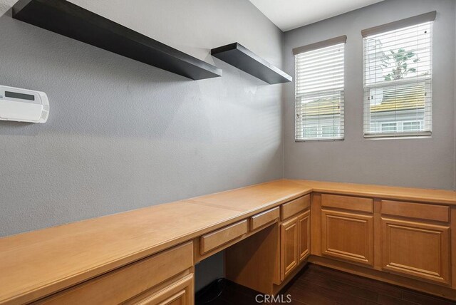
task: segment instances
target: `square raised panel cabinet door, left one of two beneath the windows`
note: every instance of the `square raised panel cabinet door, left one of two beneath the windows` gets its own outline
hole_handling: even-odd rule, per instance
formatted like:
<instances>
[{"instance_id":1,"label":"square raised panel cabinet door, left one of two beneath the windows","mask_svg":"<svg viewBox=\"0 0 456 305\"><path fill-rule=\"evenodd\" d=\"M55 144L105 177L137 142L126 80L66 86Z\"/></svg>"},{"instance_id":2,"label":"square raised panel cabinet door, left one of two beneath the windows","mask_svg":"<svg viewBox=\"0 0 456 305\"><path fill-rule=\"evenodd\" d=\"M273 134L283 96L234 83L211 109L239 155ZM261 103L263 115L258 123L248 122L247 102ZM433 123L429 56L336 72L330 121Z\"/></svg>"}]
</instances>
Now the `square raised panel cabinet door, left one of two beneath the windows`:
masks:
<instances>
[{"instance_id":1,"label":"square raised panel cabinet door, left one of two beneath the windows","mask_svg":"<svg viewBox=\"0 0 456 305\"><path fill-rule=\"evenodd\" d=\"M373 216L321 210L321 254L373 266Z\"/></svg>"}]
</instances>

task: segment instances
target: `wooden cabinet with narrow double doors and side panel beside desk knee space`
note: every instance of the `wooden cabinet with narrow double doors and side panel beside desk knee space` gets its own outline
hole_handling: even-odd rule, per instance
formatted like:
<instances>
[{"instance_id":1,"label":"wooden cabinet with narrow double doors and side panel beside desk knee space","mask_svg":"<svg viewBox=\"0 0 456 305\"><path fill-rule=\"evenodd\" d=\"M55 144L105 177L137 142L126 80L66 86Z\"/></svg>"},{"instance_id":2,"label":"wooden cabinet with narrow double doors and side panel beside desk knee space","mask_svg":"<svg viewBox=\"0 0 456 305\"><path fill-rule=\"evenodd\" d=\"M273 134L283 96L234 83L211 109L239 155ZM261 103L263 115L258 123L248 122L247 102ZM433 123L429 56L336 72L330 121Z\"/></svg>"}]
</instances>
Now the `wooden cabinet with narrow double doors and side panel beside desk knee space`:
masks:
<instances>
[{"instance_id":1,"label":"wooden cabinet with narrow double doors and side panel beside desk knee space","mask_svg":"<svg viewBox=\"0 0 456 305\"><path fill-rule=\"evenodd\" d=\"M310 255L310 197L250 217L251 234L225 250L227 279L276 294ZM279 214L280 212L280 214ZM284 221L277 223L277 219Z\"/></svg>"}]
</instances>

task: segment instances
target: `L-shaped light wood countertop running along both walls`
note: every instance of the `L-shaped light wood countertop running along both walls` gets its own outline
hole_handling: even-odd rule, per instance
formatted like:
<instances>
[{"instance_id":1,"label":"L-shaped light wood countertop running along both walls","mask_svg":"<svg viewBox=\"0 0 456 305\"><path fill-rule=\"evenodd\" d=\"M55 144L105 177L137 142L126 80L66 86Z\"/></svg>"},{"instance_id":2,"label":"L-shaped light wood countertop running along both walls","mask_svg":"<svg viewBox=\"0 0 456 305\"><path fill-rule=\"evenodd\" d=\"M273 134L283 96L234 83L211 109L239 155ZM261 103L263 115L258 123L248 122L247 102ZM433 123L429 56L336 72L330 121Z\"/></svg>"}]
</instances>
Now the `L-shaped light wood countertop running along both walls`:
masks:
<instances>
[{"instance_id":1,"label":"L-shaped light wood countertop running along both walls","mask_svg":"<svg viewBox=\"0 0 456 305\"><path fill-rule=\"evenodd\" d=\"M456 205L456 192L276 180L0 238L0 304L32 301L310 192Z\"/></svg>"}]
</instances>

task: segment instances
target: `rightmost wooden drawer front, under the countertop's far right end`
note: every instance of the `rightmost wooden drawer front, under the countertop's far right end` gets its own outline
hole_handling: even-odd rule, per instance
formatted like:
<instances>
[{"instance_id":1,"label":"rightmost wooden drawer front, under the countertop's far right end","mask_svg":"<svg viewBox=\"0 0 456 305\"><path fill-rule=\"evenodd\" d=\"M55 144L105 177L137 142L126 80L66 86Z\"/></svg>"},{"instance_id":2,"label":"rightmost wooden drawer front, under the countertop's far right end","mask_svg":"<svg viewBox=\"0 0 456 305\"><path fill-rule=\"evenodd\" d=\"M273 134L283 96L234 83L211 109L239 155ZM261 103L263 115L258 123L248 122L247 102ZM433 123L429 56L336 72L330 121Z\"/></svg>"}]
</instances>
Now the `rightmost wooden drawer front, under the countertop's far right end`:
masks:
<instances>
[{"instance_id":1,"label":"rightmost wooden drawer front, under the countertop's far right end","mask_svg":"<svg viewBox=\"0 0 456 305\"><path fill-rule=\"evenodd\" d=\"M437 220L439 222L450 221L450 207L445 207L444 205L382 200L381 212L382 214Z\"/></svg>"}]
</instances>

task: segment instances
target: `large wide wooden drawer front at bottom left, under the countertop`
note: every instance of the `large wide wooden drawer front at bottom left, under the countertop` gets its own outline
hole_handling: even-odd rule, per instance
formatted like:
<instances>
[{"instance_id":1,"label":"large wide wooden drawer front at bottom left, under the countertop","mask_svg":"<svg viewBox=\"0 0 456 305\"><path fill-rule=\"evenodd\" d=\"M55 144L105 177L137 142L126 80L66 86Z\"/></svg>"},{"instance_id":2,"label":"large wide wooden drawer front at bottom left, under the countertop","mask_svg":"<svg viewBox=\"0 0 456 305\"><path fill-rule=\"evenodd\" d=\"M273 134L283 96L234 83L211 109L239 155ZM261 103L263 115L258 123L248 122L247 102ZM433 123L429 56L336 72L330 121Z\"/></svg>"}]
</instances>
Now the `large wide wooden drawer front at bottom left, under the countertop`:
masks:
<instances>
[{"instance_id":1,"label":"large wide wooden drawer front at bottom left, under the countertop","mask_svg":"<svg viewBox=\"0 0 456 305\"><path fill-rule=\"evenodd\" d=\"M193 243L142 259L36 304L120 304L193 266Z\"/></svg>"}]
</instances>

